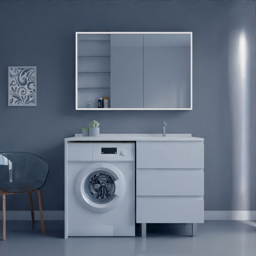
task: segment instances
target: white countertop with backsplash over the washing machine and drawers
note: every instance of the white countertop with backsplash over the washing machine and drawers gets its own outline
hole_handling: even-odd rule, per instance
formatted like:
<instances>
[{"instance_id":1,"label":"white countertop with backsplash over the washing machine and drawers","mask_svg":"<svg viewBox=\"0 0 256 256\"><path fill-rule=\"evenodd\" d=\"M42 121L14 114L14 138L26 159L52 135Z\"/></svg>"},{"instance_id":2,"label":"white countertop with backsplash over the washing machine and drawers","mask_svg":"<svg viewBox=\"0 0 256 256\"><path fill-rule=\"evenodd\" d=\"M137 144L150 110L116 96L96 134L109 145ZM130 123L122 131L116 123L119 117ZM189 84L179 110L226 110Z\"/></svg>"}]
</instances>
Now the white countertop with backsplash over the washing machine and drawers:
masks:
<instances>
[{"instance_id":1,"label":"white countertop with backsplash over the washing machine and drawers","mask_svg":"<svg viewBox=\"0 0 256 256\"><path fill-rule=\"evenodd\" d=\"M75 137L65 138L65 141L204 141L203 138L192 137L189 133L169 133L166 137L162 134L134 134L134 133L102 133L99 137L83 137L75 134Z\"/></svg>"}]
</instances>

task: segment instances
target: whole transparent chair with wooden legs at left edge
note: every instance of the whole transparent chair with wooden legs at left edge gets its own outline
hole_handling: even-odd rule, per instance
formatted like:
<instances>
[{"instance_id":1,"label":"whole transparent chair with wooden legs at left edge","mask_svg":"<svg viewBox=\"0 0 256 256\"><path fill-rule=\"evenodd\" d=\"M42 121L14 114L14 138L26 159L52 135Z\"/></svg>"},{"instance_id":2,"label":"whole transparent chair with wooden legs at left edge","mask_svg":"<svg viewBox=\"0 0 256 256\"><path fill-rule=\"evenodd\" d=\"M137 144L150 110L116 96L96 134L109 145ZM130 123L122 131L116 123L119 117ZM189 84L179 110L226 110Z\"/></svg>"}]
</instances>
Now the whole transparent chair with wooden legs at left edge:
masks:
<instances>
[{"instance_id":1,"label":"whole transparent chair with wooden legs at left edge","mask_svg":"<svg viewBox=\"0 0 256 256\"><path fill-rule=\"evenodd\" d=\"M45 234L39 189L45 184L48 172L49 164L39 156L27 152L0 152L0 195L3 197L3 241L6 240L6 195L29 193L31 218L34 223L32 192L36 192L42 233Z\"/></svg>"}]
</instances>

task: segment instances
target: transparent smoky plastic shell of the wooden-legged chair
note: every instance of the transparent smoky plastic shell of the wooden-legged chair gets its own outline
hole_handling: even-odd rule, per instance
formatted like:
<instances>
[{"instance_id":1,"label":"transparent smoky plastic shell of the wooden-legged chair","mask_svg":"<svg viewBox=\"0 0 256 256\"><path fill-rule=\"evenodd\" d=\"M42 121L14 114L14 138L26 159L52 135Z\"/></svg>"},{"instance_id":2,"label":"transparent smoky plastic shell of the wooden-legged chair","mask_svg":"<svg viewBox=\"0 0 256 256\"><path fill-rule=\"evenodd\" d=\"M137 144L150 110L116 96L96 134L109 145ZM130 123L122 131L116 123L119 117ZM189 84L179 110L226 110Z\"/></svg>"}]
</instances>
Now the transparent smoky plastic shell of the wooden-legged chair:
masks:
<instances>
[{"instance_id":1,"label":"transparent smoky plastic shell of the wooden-legged chair","mask_svg":"<svg viewBox=\"0 0 256 256\"><path fill-rule=\"evenodd\" d=\"M38 189L46 182L48 172L48 162L35 154L0 152L1 190L19 192ZM23 190L22 184L24 184ZM15 190L15 187L18 187L18 191Z\"/></svg>"}]
</instances>

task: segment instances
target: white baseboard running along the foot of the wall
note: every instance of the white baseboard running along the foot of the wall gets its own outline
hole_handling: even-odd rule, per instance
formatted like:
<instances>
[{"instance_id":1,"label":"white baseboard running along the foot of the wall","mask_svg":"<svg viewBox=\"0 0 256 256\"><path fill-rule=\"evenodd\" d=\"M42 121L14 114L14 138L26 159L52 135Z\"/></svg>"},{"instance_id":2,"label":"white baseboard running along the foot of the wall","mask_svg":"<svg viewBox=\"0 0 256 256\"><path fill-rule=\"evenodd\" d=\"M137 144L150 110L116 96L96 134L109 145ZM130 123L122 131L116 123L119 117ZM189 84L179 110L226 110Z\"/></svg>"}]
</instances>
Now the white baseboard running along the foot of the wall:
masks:
<instances>
[{"instance_id":1,"label":"white baseboard running along the foot of the wall","mask_svg":"<svg viewBox=\"0 0 256 256\"><path fill-rule=\"evenodd\" d=\"M64 211L43 211L44 220L64 220ZM39 211L34 211L40 220ZM0 211L2 218L2 211ZM6 211L6 220L31 220L30 211ZM205 211L205 220L256 220L256 211Z\"/></svg>"}]
</instances>

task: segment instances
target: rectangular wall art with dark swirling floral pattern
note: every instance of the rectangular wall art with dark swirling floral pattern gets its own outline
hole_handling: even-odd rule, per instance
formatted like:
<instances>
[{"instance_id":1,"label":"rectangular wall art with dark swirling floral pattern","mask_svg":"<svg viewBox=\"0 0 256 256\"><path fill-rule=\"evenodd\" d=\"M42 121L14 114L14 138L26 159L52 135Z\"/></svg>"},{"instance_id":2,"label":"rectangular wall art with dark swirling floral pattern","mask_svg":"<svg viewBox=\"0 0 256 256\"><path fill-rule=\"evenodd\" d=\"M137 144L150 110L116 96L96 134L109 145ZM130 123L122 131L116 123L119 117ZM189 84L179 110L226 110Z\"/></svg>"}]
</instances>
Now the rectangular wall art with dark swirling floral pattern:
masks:
<instances>
[{"instance_id":1,"label":"rectangular wall art with dark swirling floral pattern","mask_svg":"<svg viewBox=\"0 0 256 256\"><path fill-rule=\"evenodd\" d=\"M9 67L8 106L36 106L36 67Z\"/></svg>"}]
</instances>

